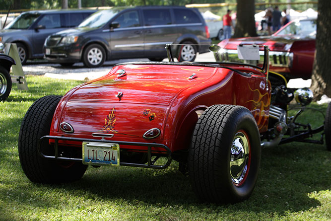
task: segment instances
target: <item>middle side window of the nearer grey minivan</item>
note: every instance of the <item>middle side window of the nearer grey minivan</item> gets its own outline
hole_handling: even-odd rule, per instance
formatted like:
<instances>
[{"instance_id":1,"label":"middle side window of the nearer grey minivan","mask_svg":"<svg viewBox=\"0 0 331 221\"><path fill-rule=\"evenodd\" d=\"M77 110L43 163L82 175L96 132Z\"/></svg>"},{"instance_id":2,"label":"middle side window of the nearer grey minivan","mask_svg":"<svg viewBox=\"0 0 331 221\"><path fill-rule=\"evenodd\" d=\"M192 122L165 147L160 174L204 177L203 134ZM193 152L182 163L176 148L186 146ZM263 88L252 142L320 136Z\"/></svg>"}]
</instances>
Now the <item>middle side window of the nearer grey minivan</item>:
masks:
<instances>
[{"instance_id":1,"label":"middle side window of the nearer grey minivan","mask_svg":"<svg viewBox=\"0 0 331 221\"><path fill-rule=\"evenodd\" d=\"M146 26L171 24L169 9L144 9L142 12Z\"/></svg>"}]
</instances>

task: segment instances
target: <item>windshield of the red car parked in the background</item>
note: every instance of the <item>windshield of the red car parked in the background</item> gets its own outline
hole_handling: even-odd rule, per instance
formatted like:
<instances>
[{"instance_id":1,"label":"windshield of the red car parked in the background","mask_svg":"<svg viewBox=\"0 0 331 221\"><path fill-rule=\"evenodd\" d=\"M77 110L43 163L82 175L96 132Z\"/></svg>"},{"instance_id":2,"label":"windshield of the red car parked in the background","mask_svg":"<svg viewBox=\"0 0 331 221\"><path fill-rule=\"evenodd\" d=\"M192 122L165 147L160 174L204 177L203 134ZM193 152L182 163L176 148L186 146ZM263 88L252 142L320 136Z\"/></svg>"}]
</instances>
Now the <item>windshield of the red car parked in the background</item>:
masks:
<instances>
[{"instance_id":1,"label":"windshield of the red car parked in the background","mask_svg":"<svg viewBox=\"0 0 331 221\"><path fill-rule=\"evenodd\" d=\"M316 20L303 20L290 23L277 35L299 35L303 37L316 35Z\"/></svg>"}]
</instances>

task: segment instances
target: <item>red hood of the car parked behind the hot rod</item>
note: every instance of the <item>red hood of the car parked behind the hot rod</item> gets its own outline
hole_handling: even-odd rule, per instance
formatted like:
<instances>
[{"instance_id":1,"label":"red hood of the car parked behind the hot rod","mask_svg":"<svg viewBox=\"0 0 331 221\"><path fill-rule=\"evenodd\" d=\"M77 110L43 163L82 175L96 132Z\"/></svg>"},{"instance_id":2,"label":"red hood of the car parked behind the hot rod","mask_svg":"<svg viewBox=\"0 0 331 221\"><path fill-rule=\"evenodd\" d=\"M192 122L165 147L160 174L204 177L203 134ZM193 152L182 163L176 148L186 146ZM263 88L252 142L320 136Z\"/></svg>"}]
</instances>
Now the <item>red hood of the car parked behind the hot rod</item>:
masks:
<instances>
[{"instance_id":1,"label":"red hood of the car parked behind the hot rod","mask_svg":"<svg viewBox=\"0 0 331 221\"><path fill-rule=\"evenodd\" d=\"M247 38L231 38L225 39L219 43L219 46L225 49L236 50L240 44L257 44L267 45L271 51L288 51L293 42L312 40L312 38L301 38L294 35L271 35L271 36L259 36L259 37L247 37ZM261 49L263 50L263 49Z\"/></svg>"}]
</instances>

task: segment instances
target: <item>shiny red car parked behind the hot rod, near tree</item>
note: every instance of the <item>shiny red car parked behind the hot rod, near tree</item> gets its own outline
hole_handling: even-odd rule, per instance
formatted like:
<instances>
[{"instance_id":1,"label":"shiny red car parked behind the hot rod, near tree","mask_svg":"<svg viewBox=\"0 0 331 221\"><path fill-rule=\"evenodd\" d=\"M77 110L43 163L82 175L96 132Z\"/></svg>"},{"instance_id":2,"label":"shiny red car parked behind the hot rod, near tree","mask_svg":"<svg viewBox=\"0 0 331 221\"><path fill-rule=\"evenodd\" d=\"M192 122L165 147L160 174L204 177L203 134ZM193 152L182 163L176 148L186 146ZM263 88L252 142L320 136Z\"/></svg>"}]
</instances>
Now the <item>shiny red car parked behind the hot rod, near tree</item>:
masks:
<instances>
[{"instance_id":1,"label":"shiny red car parked behind the hot rod, near tree","mask_svg":"<svg viewBox=\"0 0 331 221\"><path fill-rule=\"evenodd\" d=\"M238 45L267 45L270 49L270 71L287 79L309 79L312 74L316 38L316 19L297 19L271 36L231 38L218 45L228 54L237 54ZM223 57L223 61L228 56Z\"/></svg>"}]
</instances>

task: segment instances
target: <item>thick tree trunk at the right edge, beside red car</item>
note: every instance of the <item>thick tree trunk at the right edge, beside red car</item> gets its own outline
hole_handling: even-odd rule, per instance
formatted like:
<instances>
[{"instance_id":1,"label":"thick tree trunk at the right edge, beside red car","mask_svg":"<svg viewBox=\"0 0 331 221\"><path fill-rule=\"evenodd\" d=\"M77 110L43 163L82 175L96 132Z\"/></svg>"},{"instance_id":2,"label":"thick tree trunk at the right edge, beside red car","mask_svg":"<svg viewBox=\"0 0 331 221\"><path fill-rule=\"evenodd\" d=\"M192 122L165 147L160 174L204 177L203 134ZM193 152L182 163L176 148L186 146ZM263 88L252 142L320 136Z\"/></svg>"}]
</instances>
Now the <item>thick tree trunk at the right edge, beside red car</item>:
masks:
<instances>
[{"instance_id":1,"label":"thick tree trunk at the right edge, beside red car","mask_svg":"<svg viewBox=\"0 0 331 221\"><path fill-rule=\"evenodd\" d=\"M323 94L331 97L331 1L318 1L316 51L312 74L311 90L314 92L314 100L319 100ZM327 87L328 86L328 87Z\"/></svg>"}]
</instances>

